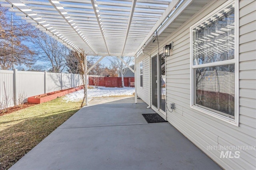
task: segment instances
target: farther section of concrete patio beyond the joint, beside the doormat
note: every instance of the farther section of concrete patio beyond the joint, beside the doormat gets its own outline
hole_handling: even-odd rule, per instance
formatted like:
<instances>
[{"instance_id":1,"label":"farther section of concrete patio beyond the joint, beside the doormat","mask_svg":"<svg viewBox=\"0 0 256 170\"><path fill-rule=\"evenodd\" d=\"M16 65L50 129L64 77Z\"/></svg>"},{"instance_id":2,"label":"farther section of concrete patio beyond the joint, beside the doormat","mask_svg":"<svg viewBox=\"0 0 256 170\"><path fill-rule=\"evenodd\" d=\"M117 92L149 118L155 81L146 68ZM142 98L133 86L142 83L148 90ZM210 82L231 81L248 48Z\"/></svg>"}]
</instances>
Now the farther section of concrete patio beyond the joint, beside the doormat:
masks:
<instances>
[{"instance_id":1,"label":"farther section of concrete patio beyond the joint, beside the doormat","mask_svg":"<svg viewBox=\"0 0 256 170\"><path fill-rule=\"evenodd\" d=\"M108 99L105 98L106 100ZM94 106L88 105L76 112L75 116L70 117L59 128L145 124L147 122L141 114L155 113L146 107L147 105L143 102L134 104L134 98Z\"/></svg>"}]
</instances>

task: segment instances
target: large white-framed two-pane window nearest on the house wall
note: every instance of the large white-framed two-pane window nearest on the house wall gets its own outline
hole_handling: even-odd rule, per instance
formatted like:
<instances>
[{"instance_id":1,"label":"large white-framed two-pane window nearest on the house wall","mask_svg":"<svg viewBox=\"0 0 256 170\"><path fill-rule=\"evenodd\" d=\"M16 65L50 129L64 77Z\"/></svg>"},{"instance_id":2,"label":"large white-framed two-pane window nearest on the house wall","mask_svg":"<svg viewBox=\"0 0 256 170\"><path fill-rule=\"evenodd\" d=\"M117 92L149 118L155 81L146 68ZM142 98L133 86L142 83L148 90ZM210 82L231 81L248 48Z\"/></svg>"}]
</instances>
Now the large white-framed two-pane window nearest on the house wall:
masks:
<instances>
[{"instance_id":1,"label":"large white-framed two-pane window nearest on the house wall","mask_svg":"<svg viewBox=\"0 0 256 170\"><path fill-rule=\"evenodd\" d=\"M235 4L190 27L191 107L238 125Z\"/></svg>"}]
</instances>

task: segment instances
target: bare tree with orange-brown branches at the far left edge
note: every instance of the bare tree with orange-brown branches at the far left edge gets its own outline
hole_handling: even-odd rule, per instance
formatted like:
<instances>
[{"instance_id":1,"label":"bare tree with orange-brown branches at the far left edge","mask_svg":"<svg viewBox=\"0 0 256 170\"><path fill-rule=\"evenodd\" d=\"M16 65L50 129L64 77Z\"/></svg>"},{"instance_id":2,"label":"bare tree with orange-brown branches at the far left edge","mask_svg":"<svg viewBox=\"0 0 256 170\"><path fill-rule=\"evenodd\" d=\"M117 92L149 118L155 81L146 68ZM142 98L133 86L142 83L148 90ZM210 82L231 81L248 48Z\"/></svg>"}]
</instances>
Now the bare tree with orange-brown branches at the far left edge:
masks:
<instances>
[{"instance_id":1,"label":"bare tree with orange-brown branches at the far left edge","mask_svg":"<svg viewBox=\"0 0 256 170\"><path fill-rule=\"evenodd\" d=\"M8 70L18 64L34 62L36 52L23 42L34 37L34 27L15 15L11 19L8 8L0 5L0 67Z\"/></svg>"}]
</instances>

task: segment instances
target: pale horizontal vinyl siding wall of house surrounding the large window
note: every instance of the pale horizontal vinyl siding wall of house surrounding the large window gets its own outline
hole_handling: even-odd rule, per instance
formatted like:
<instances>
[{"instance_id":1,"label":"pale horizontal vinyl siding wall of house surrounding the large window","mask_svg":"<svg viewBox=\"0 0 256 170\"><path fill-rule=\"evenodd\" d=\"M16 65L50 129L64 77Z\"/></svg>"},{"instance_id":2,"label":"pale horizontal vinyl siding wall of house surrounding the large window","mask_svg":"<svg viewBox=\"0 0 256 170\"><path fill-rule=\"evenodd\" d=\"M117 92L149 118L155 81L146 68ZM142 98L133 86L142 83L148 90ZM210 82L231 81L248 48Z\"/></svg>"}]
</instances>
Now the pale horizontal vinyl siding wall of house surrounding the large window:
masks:
<instances>
[{"instance_id":1,"label":"pale horizontal vinyl siding wall of house surrounding the large window","mask_svg":"<svg viewBox=\"0 0 256 170\"><path fill-rule=\"evenodd\" d=\"M163 49L174 41L174 49L166 60L166 95L167 106L175 103L176 108L167 111L167 120L223 168L256 169L256 1L239 1L239 127L190 108L190 26L224 2L210 2L160 44ZM150 55L157 52L156 47ZM137 74L138 71L139 63ZM139 76L137 80L138 95L146 98L144 89L139 87ZM150 84L148 78L146 81L143 83ZM221 150L209 149L211 146L254 149L238 149L239 158L220 158ZM236 150L230 151L234 156Z\"/></svg>"}]
</instances>

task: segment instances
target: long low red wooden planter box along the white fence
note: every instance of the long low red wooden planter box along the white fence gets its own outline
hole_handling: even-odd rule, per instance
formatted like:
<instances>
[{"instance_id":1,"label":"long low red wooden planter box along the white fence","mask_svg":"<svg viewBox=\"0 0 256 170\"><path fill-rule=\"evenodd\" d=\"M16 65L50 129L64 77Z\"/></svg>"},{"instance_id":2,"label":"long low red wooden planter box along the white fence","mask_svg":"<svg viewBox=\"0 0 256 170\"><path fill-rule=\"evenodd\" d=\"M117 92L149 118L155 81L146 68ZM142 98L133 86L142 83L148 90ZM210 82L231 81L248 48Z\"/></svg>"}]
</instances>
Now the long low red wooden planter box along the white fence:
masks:
<instances>
[{"instance_id":1,"label":"long low red wooden planter box along the white fence","mask_svg":"<svg viewBox=\"0 0 256 170\"><path fill-rule=\"evenodd\" d=\"M66 95L66 94L81 90L83 88L84 88L83 86L79 86L79 87L72 88L72 89L59 90L59 91L55 91L55 92L32 96L32 97L28 98L28 103L40 104L40 103L48 102L50 100L56 99L58 97ZM41 97L41 96L43 96L43 97Z\"/></svg>"}]
</instances>

